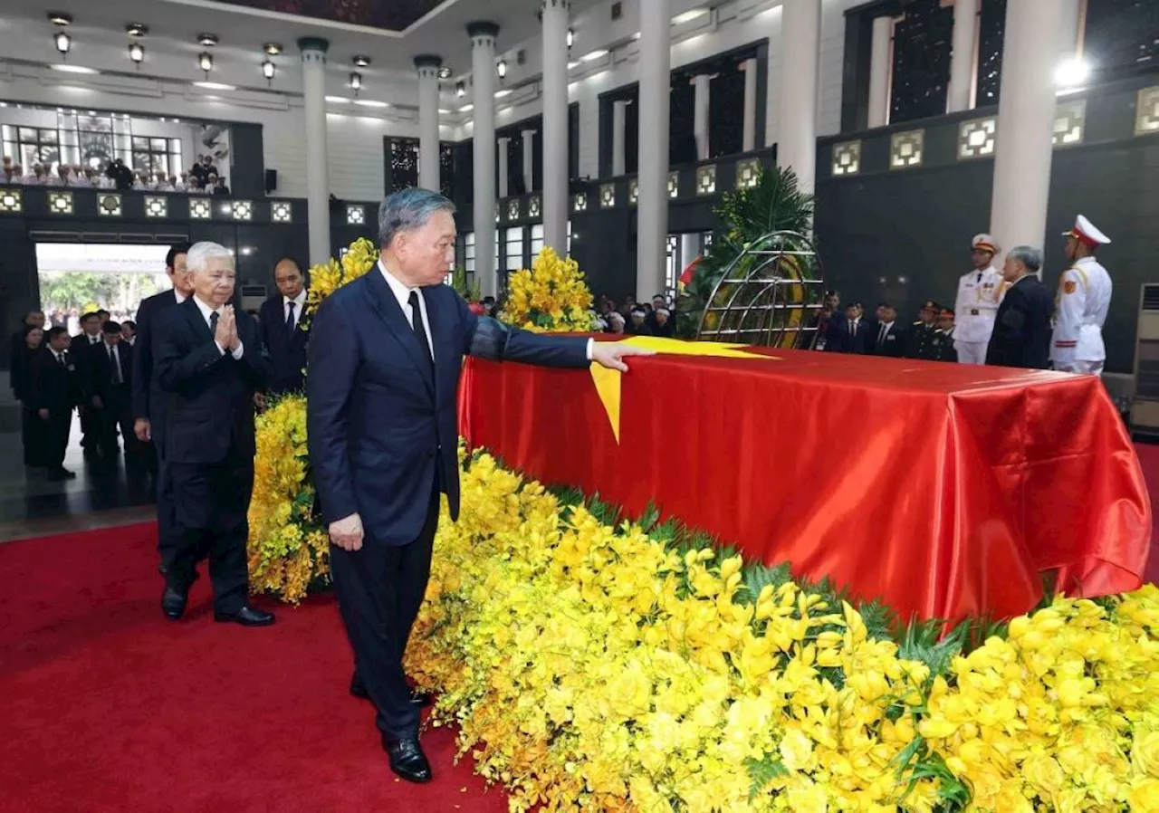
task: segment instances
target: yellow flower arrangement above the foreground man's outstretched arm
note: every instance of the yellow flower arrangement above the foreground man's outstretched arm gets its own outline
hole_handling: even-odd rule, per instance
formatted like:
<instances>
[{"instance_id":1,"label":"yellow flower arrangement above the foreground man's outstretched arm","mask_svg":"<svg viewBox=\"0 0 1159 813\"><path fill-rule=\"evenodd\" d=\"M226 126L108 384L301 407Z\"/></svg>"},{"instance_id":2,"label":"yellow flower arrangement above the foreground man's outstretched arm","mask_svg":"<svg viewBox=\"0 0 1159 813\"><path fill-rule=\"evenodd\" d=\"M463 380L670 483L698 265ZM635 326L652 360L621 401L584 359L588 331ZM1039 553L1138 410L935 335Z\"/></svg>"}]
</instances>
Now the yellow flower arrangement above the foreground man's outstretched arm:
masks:
<instances>
[{"instance_id":1,"label":"yellow flower arrangement above the foreground man's outstretched arm","mask_svg":"<svg viewBox=\"0 0 1159 813\"><path fill-rule=\"evenodd\" d=\"M588 332L596 329L591 291L580 265L561 258L549 246L532 263L508 277L500 318L537 332Z\"/></svg>"}]
</instances>

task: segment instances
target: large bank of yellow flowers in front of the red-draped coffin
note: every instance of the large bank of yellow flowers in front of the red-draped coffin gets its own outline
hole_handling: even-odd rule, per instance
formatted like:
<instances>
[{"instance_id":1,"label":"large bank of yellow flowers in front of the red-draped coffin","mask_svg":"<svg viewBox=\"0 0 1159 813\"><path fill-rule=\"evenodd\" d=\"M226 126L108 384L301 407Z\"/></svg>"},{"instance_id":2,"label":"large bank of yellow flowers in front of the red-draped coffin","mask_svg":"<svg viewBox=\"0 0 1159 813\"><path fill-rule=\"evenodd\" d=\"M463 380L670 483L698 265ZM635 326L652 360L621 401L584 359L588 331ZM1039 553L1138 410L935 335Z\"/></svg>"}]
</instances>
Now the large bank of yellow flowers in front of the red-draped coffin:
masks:
<instances>
[{"instance_id":1,"label":"large bank of yellow flowers in front of the red-draped coffin","mask_svg":"<svg viewBox=\"0 0 1159 813\"><path fill-rule=\"evenodd\" d=\"M512 811L1159 810L1153 586L932 665L824 591L466 462L408 673Z\"/></svg>"}]
</instances>

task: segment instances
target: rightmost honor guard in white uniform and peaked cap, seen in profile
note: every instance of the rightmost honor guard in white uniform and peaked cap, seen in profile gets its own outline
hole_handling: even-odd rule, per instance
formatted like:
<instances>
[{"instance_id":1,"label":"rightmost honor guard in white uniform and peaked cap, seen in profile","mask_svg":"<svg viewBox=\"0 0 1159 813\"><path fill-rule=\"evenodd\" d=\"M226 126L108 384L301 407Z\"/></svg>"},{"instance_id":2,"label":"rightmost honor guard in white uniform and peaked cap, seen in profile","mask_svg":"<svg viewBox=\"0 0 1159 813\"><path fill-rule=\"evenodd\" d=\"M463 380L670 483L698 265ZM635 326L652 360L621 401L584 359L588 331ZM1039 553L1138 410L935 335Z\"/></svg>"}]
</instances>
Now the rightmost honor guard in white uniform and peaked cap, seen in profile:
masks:
<instances>
[{"instance_id":1,"label":"rightmost honor guard in white uniform and peaked cap, seen in profile","mask_svg":"<svg viewBox=\"0 0 1159 813\"><path fill-rule=\"evenodd\" d=\"M1102 325L1110 307L1110 274L1094 258L1100 246L1110 237L1081 214L1074 228L1065 232L1066 257L1071 268L1058 279L1055 296L1055 334L1050 339L1050 358L1055 369L1066 373L1101 375L1107 351L1102 344Z\"/></svg>"}]
</instances>

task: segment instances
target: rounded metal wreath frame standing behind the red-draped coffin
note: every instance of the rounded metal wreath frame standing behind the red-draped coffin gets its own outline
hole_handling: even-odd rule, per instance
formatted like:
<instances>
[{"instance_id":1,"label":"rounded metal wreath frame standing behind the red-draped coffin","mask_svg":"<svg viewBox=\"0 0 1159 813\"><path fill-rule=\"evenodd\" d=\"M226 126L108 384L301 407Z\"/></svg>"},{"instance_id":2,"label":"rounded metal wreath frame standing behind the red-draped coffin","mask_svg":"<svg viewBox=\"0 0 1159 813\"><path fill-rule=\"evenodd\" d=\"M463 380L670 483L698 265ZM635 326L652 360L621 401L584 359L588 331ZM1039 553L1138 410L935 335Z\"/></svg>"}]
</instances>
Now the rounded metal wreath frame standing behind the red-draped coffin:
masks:
<instances>
[{"instance_id":1,"label":"rounded metal wreath frame standing behind the red-draped coffin","mask_svg":"<svg viewBox=\"0 0 1159 813\"><path fill-rule=\"evenodd\" d=\"M700 315L697 338L766 347L811 349L825 280L812 241L770 232L737 255Z\"/></svg>"}]
</instances>

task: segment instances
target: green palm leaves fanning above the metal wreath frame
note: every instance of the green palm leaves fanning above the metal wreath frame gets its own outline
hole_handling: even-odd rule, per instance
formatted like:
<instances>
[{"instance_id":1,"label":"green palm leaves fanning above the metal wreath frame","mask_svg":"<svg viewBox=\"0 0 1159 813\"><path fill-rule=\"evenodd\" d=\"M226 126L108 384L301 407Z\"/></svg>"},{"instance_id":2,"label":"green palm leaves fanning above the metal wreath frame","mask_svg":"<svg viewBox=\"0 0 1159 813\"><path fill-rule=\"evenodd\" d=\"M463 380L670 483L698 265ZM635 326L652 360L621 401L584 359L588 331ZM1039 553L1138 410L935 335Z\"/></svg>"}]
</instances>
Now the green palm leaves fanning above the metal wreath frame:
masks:
<instances>
[{"instance_id":1,"label":"green palm leaves fanning above the metal wreath frame","mask_svg":"<svg viewBox=\"0 0 1159 813\"><path fill-rule=\"evenodd\" d=\"M677 300L679 336L697 338L701 316L716 284L745 249L771 232L808 235L812 205L812 196L800 190L796 174L788 168L765 169L756 185L726 192L715 210L717 227L713 230L713 244ZM757 262L757 257L746 257L732 276L746 276Z\"/></svg>"}]
</instances>

